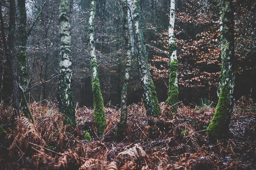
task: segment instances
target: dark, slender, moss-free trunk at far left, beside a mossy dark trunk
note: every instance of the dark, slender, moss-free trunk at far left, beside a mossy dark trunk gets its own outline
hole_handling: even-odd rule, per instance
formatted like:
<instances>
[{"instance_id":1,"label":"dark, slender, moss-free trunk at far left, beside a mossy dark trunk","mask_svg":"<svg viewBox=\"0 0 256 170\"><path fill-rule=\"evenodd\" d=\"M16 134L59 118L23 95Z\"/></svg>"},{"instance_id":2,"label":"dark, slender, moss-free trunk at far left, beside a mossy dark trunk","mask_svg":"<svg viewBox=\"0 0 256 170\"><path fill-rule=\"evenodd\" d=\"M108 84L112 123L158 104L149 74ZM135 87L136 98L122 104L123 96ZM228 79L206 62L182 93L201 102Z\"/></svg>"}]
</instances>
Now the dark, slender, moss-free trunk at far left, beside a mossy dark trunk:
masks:
<instances>
[{"instance_id":1,"label":"dark, slender, moss-free trunk at far left, beside a mossy dark trunk","mask_svg":"<svg viewBox=\"0 0 256 170\"><path fill-rule=\"evenodd\" d=\"M9 22L9 32L8 32L8 41L9 41L9 57L11 63L11 72L13 76L13 122L15 117L19 116L19 83L18 83L18 72L17 72L17 63L15 57L15 0L10 0L10 22Z\"/></svg>"}]
</instances>

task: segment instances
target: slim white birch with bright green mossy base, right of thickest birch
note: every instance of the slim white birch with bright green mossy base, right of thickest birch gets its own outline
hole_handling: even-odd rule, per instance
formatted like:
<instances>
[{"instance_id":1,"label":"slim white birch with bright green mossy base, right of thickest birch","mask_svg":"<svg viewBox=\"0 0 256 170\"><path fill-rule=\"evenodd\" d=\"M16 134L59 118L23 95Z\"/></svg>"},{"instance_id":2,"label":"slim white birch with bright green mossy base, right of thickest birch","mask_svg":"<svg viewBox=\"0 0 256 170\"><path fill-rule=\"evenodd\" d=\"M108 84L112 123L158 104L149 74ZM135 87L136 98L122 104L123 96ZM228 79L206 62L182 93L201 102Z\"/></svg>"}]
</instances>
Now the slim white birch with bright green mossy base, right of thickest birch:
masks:
<instances>
[{"instance_id":1,"label":"slim white birch with bright green mossy base, right of thickest birch","mask_svg":"<svg viewBox=\"0 0 256 170\"><path fill-rule=\"evenodd\" d=\"M92 74L92 92L94 119L97 127L97 133L102 135L106 128L106 117L104 110L104 102L100 89L100 81L98 78L98 63L95 51L94 39L94 16L96 11L96 1L90 3L90 18L88 23L88 52L90 55L90 72Z\"/></svg>"}]
</instances>

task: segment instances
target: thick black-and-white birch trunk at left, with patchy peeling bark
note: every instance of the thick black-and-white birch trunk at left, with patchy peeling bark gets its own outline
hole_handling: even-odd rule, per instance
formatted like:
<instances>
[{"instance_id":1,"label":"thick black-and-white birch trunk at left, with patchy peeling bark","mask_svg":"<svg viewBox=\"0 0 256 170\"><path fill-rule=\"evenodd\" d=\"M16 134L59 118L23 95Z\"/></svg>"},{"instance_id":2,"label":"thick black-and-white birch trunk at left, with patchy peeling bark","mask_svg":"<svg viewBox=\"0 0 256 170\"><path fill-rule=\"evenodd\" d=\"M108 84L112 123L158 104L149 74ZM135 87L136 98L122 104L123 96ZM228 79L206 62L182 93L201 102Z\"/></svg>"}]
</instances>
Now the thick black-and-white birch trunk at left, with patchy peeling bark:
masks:
<instances>
[{"instance_id":1,"label":"thick black-and-white birch trunk at left, with patchy peeling bark","mask_svg":"<svg viewBox=\"0 0 256 170\"><path fill-rule=\"evenodd\" d=\"M72 92L71 25L69 22L69 0L60 0L60 69L59 111L65 115L65 124L76 126L74 98Z\"/></svg>"}]
</instances>

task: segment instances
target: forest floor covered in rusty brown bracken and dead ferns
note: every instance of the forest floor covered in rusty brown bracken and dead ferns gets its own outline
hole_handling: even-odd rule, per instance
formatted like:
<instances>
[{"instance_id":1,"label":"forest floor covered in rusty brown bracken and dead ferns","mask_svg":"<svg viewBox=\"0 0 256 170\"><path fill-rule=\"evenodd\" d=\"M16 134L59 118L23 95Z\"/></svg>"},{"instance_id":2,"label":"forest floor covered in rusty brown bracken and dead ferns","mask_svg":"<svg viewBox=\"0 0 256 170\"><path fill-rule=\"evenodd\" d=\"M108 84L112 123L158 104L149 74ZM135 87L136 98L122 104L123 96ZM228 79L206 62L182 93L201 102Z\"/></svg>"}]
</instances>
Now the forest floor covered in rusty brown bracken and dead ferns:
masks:
<instances>
[{"instance_id":1,"label":"forest floor covered in rusty brown bracken and dead ferns","mask_svg":"<svg viewBox=\"0 0 256 170\"><path fill-rule=\"evenodd\" d=\"M93 109L76 109L77 127L63 126L54 104L31 103L36 120L17 118L1 105L0 169L256 169L256 106L241 98L234 106L225 140L209 143L206 128L214 107L180 104L174 116L160 103L158 127L147 124L142 103L128 109L127 136L115 142L120 110L105 107L107 128L97 136ZM89 132L92 141L84 138Z\"/></svg>"}]
</instances>

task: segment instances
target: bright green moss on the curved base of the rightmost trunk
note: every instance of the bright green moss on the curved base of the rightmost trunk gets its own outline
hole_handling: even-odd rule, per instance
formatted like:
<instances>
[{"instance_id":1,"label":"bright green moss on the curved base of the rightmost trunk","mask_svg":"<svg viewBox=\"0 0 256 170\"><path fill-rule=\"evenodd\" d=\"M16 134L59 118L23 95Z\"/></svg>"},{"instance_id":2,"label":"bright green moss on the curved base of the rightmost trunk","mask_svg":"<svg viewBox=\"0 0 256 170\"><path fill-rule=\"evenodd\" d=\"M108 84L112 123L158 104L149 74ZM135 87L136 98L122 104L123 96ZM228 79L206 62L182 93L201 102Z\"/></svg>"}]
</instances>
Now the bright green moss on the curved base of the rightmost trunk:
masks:
<instances>
[{"instance_id":1,"label":"bright green moss on the curved base of the rightmost trunk","mask_svg":"<svg viewBox=\"0 0 256 170\"><path fill-rule=\"evenodd\" d=\"M221 86L221 93L218 99L218 105L213 115L212 122L207 127L209 140L213 143L217 140L225 139L228 134L230 122L230 86L228 84Z\"/></svg>"}]
</instances>

